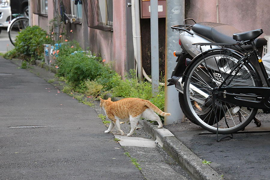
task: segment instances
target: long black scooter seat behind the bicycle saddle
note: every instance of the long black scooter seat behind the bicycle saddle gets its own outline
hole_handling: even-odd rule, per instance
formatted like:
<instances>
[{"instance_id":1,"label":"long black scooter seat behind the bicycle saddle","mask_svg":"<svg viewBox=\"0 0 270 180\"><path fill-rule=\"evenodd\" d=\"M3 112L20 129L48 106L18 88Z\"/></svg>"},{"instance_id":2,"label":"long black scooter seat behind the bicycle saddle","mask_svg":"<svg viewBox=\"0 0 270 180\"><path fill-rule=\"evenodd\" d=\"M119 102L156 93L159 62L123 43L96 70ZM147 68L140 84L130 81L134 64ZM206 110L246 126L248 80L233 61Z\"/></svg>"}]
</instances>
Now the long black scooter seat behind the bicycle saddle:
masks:
<instances>
[{"instance_id":1,"label":"long black scooter seat behind the bicycle saddle","mask_svg":"<svg viewBox=\"0 0 270 180\"><path fill-rule=\"evenodd\" d=\"M237 34L238 32L240 32L238 29L235 29L232 26L216 22L199 22L193 25L192 30L196 34L204 36L205 38L208 38L216 43L230 43L230 44L237 43L237 41L233 39L233 34ZM246 37L246 35L240 35L240 37L241 38ZM259 35L257 37L259 37ZM257 48L267 44L267 41L264 38L259 39L261 40L258 41L258 43L256 43L258 39L255 39L254 41ZM239 41L239 39L237 40ZM242 47L247 50L252 49L251 45L244 45ZM230 48L236 49L233 46Z\"/></svg>"}]
</instances>

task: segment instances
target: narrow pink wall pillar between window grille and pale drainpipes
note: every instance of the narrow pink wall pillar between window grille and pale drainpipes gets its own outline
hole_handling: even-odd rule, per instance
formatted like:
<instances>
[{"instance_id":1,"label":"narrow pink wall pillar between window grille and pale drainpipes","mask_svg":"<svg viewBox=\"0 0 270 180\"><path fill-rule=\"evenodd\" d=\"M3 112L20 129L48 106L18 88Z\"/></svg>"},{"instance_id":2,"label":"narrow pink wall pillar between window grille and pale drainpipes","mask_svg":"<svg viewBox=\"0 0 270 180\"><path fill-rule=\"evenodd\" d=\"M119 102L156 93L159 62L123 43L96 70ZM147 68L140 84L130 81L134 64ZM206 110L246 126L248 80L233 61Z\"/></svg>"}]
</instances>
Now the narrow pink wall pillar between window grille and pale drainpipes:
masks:
<instances>
[{"instance_id":1,"label":"narrow pink wall pillar between window grille and pale drainpipes","mask_svg":"<svg viewBox=\"0 0 270 180\"><path fill-rule=\"evenodd\" d=\"M126 62L126 18L125 1L113 3L113 58L115 70L122 77L125 75Z\"/></svg>"}]
</instances>

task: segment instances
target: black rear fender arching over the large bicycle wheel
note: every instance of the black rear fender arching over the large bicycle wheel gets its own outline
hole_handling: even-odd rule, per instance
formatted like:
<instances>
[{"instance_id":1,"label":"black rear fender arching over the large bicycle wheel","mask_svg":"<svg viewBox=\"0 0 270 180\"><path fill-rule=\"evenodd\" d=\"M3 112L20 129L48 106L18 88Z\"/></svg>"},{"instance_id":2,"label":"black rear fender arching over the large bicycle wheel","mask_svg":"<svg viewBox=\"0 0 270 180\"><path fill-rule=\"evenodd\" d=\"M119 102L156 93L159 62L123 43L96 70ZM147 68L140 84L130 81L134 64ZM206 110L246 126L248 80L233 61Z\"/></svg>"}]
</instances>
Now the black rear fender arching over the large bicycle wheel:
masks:
<instances>
[{"instance_id":1,"label":"black rear fender arching over the large bicycle wheel","mask_svg":"<svg viewBox=\"0 0 270 180\"><path fill-rule=\"evenodd\" d=\"M190 67L192 66L192 64L194 64L194 62L195 62L198 58L201 58L202 55L206 55L206 54L208 54L208 53L210 53L210 52L220 51L220 49L229 50L229 51L231 51L233 54L235 54L235 55L237 55L237 56L240 56L240 57L244 56L242 53L240 53L240 52L238 52L238 51L235 51L235 50L233 50L233 49L229 49L229 48L219 48L219 47L217 47L217 48L208 49L208 50L206 50L206 51L203 51L203 52L199 53L198 55L196 55L196 56L192 59L192 61L190 62L190 64L186 67L186 69L184 70L183 78L182 78L182 83L184 82L184 80L185 80L185 78L186 78L187 71L190 69ZM257 70L254 68L253 64L250 63L250 65L252 66L252 68L254 69L254 71L257 72ZM257 73L258 73L258 72L257 72Z\"/></svg>"}]
</instances>

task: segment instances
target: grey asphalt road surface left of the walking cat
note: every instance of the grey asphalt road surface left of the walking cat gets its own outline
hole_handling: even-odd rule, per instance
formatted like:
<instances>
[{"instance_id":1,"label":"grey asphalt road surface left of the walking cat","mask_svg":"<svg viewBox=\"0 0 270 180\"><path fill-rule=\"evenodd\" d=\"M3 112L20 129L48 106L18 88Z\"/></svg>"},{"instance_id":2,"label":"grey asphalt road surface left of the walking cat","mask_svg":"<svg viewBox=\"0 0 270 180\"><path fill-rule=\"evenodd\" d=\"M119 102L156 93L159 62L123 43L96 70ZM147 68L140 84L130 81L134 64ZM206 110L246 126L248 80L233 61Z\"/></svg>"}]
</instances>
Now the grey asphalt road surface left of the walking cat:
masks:
<instances>
[{"instance_id":1,"label":"grey asphalt road surface left of the walking cat","mask_svg":"<svg viewBox=\"0 0 270 180\"><path fill-rule=\"evenodd\" d=\"M145 179L95 109L0 64L0 179Z\"/></svg>"}]
</instances>

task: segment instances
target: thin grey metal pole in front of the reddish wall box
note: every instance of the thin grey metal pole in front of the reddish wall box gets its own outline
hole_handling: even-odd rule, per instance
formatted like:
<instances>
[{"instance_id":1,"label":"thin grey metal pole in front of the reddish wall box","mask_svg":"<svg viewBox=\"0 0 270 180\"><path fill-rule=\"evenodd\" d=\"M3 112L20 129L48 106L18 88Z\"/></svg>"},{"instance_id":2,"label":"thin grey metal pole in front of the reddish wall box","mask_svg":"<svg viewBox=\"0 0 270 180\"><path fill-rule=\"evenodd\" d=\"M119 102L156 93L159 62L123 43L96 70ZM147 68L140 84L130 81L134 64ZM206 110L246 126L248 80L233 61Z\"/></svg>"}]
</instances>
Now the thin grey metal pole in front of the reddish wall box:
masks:
<instances>
[{"instance_id":1,"label":"thin grey metal pole in front of the reddish wall box","mask_svg":"<svg viewBox=\"0 0 270 180\"><path fill-rule=\"evenodd\" d=\"M151 26L151 78L152 94L157 95L159 85L159 57L158 57L158 0L150 1Z\"/></svg>"}]
</instances>

